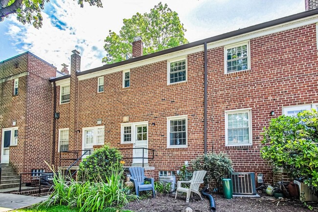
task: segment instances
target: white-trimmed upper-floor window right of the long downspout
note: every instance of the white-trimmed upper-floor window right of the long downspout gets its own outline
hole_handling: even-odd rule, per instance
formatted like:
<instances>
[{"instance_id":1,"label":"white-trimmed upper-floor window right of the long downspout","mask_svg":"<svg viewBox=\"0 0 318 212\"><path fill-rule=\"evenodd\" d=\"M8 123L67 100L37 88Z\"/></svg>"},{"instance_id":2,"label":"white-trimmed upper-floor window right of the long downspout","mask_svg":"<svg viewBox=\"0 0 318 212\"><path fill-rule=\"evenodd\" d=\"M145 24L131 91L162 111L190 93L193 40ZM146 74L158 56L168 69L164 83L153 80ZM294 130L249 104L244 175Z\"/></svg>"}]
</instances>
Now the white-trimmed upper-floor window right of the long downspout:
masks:
<instances>
[{"instance_id":1,"label":"white-trimmed upper-floor window right of the long downspout","mask_svg":"<svg viewBox=\"0 0 318 212\"><path fill-rule=\"evenodd\" d=\"M224 47L225 73L243 71L250 68L249 42L241 42Z\"/></svg>"}]
</instances>

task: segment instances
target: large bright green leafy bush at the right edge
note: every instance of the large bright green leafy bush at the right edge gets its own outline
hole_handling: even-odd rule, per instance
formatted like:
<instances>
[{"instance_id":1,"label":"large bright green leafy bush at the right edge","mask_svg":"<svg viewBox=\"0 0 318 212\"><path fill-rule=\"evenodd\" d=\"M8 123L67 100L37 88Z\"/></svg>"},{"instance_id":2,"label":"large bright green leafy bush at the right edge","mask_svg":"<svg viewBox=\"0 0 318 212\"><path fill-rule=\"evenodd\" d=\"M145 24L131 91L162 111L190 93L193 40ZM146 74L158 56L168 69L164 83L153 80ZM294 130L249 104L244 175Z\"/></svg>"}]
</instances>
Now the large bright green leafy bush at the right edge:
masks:
<instances>
[{"instance_id":1,"label":"large bright green leafy bush at the right edge","mask_svg":"<svg viewBox=\"0 0 318 212\"><path fill-rule=\"evenodd\" d=\"M318 191L318 112L302 111L296 117L279 116L264 128L261 156L273 166L290 171Z\"/></svg>"}]
</instances>

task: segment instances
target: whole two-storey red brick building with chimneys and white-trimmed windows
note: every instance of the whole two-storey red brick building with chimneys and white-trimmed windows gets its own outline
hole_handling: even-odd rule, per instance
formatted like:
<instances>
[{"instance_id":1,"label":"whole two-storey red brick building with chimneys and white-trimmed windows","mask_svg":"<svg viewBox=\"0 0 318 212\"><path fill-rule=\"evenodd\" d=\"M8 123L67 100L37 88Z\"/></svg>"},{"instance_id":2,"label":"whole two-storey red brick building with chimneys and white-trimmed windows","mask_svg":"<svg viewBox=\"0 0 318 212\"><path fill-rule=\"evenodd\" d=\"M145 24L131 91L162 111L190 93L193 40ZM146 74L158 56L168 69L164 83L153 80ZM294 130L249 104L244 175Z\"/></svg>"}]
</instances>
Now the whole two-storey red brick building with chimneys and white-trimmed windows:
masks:
<instances>
[{"instance_id":1,"label":"whole two-storey red brick building with chimneys and white-trimmed windows","mask_svg":"<svg viewBox=\"0 0 318 212\"><path fill-rule=\"evenodd\" d=\"M83 152L104 144L150 148L155 149L154 160L144 162L158 178L158 171L179 170L204 152L222 151L235 171L261 172L271 180L272 168L260 158L261 131L281 114L318 106L316 7L317 0L306 0L305 12L144 56L136 38L134 58L85 71L74 50L70 74L49 80L52 85L44 80L50 71L38 77L30 69L29 75L16 77L19 91L28 77L41 82L34 95L26 92L22 101L30 105L24 110L13 107L14 98L23 96L13 96L15 78L9 77L11 72L3 75L2 67L0 127L11 127L12 134L19 127L10 163L17 168L31 164L30 171L45 167L41 160L58 166L62 150ZM28 53L0 65L20 63L26 56L34 57ZM23 134L27 118L34 128ZM19 153L12 154L16 148ZM135 157L127 165L142 163L136 158L142 150L122 152ZM151 150L144 154L152 157Z\"/></svg>"}]
</instances>

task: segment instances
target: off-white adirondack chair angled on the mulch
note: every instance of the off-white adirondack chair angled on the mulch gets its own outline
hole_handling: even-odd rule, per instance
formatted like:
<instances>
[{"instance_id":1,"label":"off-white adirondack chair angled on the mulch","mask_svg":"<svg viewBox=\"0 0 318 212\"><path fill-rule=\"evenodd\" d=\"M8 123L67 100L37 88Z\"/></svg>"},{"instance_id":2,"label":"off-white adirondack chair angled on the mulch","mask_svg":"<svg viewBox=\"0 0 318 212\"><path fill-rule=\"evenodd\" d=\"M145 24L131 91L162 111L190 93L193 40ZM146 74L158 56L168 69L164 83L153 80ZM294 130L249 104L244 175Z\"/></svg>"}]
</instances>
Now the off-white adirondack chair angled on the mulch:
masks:
<instances>
[{"instance_id":1,"label":"off-white adirondack chair angled on the mulch","mask_svg":"<svg viewBox=\"0 0 318 212\"><path fill-rule=\"evenodd\" d=\"M175 199L177 198L178 191L186 193L186 202L187 203L189 202L191 192L199 194L200 198L202 199L201 194L199 192L199 187L200 187L200 184L204 183L203 182L203 178L204 178L205 174L206 174L205 170L194 171L191 180L189 180L189 181L178 181L178 186L177 186ZM190 184L190 188L181 187L182 183L189 183Z\"/></svg>"}]
</instances>

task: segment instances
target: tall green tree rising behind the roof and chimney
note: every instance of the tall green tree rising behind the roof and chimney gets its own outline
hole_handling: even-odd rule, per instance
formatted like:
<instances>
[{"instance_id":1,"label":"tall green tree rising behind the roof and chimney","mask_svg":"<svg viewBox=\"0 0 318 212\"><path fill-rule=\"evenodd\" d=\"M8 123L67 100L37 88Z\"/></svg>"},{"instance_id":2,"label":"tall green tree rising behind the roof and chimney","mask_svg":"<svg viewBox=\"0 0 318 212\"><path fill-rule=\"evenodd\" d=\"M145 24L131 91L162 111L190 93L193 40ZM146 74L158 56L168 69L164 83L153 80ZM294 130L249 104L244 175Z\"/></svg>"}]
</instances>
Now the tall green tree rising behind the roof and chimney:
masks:
<instances>
[{"instance_id":1,"label":"tall green tree rising behind the roof and chimney","mask_svg":"<svg viewBox=\"0 0 318 212\"><path fill-rule=\"evenodd\" d=\"M150 54L163 49L188 43L184 38L183 24L178 13L160 2L150 13L136 13L131 19L124 19L119 34L109 31L104 48L107 52L103 63L116 63L132 57L134 37L141 36L145 47L143 54Z\"/></svg>"}]
</instances>

